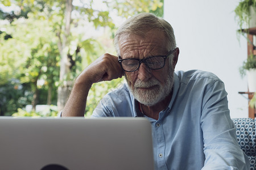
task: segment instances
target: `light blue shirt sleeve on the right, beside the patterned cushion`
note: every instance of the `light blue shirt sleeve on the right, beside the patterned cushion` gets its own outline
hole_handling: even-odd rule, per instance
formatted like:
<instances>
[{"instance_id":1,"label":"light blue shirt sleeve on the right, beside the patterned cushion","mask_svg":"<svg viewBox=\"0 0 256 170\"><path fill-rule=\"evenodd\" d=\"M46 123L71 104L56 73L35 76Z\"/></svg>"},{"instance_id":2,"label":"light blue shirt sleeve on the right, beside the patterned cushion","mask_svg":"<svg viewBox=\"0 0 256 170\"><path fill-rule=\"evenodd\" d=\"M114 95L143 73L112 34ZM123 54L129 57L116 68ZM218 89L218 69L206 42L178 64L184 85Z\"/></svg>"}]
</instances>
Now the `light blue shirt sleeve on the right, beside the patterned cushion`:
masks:
<instances>
[{"instance_id":1,"label":"light blue shirt sleeve on the right, beside the patterned cushion","mask_svg":"<svg viewBox=\"0 0 256 170\"><path fill-rule=\"evenodd\" d=\"M202 169L250 169L229 116L227 93L220 80L205 89L201 115L205 163Z\"/></svg>"}]
</instances>

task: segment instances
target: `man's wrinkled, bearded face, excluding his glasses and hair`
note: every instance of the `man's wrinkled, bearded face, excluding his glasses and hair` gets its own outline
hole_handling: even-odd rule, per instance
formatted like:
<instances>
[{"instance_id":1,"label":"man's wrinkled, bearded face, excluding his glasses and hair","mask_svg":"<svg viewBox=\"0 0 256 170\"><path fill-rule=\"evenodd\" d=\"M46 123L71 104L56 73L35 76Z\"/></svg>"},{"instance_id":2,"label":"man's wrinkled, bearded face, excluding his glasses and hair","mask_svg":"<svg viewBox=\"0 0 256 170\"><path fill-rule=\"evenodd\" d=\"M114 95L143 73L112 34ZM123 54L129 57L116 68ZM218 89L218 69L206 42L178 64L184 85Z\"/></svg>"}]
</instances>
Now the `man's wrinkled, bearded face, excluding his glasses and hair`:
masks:
<instances>
[{"instance_id":1,"label":"man's wrinkled, bearded face, excluding his glasses and hair","mask_svg":"<svg viewBox=\"0 0 256 170\"><path fill-rule=\"evenodd\" d=\"M120 55L125 58L147 58L165 56L167 49L166 36L163 32L151 30L145 37L122 35L119 39ZM155 105L171 93L174 67L166 59L162 69L151 70L144 63L137 71L125 72L125 78L135 99L144 105Z\"/></svg>"}]
</instances>

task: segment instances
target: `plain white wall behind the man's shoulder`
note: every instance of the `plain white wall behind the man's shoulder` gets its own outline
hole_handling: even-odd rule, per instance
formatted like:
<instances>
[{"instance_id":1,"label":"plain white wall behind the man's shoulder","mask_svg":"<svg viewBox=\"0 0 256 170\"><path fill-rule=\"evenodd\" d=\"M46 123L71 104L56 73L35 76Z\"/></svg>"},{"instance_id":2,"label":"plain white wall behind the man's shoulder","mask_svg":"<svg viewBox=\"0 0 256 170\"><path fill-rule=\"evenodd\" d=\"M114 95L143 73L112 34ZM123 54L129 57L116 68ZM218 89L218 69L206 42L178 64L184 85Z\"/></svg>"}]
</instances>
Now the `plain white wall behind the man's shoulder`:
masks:
<instances>
[{"instance_id":1,"label":"plain white wall behind the man's shoulder","mask_svg":"<svg viewBox=\"0 0 256 170\"><path fill-rule=\"evenodd\" d=\"M246 96L238 94L247 91L246 77L239 73L247 57L247 42L237 36L237 5L233 0L164 1L164 19L174 28L180 48L176 70L200 69L222 79L232 118L248 117Z\"/></svg>"}]
</instances>

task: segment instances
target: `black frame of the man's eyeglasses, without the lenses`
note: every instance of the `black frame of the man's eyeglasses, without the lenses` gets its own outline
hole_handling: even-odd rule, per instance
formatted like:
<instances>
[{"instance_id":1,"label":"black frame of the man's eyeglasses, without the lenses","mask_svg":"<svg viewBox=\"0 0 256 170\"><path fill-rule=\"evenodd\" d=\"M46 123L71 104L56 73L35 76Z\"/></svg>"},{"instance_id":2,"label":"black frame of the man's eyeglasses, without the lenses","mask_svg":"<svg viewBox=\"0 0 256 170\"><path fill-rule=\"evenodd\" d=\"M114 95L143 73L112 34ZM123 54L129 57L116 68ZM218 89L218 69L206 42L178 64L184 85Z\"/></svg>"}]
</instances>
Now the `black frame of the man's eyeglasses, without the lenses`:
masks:
<instances>
[{"instance_id":1,"label":"black frame of the man's eyeglasses, without the lenses","mask_svg":"<svg viewBox=\"0 0 256 170\"><path fill-rule=\"evenodd\" d=\"M151 69L151 70L159 70L159 69L162 69L162 68L164 67L164 65L166 65L166 58L168 58L175 50L176 50L176 48L170 50L170 52L168 52L168 53L166 54L166 56L150 56L150 57L143 58L143 59L138 59L138 58L125 58L125 59L121 59L121 56L118 56L118 63L121 65L121 67L122 67L122 69L123 69L122 61L125 61L125 60L127 60L127 59L134 59L134 60L139 61L139 66L138 66L137 69L135 69L135 70L133 70L133 71L127 71L127 70L123 69L123 70L126 71L126 72L134 72L134 71L136 71L136 70L139 69L139 67L141 66L141 63L142 63L142 62L143 62L149 69L151 69L151 68L147 65L146 59L152 58L152 57L163 57L163 59L164 59L163 66L160 67L160 68L158 68L158 69Z\"/></svg>"}]
</instances>

